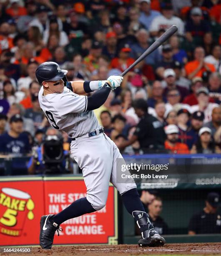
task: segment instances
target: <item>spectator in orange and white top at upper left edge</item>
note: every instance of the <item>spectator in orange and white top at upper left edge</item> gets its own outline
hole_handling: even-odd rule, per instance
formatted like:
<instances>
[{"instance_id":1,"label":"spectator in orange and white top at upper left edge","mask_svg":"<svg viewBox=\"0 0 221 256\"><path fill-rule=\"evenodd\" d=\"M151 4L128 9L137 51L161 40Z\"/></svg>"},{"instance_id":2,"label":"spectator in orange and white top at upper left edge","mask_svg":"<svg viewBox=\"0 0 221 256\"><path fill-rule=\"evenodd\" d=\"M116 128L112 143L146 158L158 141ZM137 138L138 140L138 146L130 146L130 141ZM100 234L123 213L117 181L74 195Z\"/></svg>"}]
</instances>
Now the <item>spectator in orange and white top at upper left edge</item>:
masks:
<instances>
[{"instance_id":1,"label":"spectator in orange and white top at upper left edge","mask_svg":"<svg viewBox=\"0 0 221 256\"><path fill-rule=\"evenodd\" d=\"M13 48L13 38L10 36L10 25L7 22L0 24L0 54L4 50Z\"/></svg>"}]
</instances>

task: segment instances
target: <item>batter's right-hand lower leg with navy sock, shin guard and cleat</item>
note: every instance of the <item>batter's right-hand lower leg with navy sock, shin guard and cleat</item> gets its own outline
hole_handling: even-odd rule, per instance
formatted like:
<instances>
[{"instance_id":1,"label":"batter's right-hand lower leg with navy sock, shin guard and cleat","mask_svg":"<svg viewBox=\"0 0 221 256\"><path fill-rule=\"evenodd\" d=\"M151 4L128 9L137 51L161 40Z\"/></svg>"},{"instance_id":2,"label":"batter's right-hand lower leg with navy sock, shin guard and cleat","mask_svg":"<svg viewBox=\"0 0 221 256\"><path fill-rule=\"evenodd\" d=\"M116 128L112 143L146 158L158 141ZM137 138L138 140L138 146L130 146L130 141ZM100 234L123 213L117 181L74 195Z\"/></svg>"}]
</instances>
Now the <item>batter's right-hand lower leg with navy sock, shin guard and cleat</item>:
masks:
<instances>
[{"instance_id":1,"label":"batter's right-hand lower leg with navy sock, shin guard and cleat","mask_svg":"<svg viewBox=\"0 0 221 256\"><path fill-rule=\"evenodd\" d=\"M163 246L165 239L160 236L149 220L136 188L128 190L121 195L127 211L133 215L138 227L141 230L142 238L138 241L139 246Z\"/></svg>"}]
</instances>

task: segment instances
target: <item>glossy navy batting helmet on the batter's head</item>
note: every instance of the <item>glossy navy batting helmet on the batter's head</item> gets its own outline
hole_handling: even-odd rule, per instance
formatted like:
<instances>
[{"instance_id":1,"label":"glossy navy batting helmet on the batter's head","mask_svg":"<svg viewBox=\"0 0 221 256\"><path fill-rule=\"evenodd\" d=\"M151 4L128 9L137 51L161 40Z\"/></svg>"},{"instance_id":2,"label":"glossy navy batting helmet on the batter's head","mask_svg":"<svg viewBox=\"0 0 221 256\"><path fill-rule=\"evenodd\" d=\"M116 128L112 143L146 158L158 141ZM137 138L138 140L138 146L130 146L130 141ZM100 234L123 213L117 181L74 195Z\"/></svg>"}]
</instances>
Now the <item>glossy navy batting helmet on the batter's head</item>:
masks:
<instances>
[{"instance_id":1,"label":"glossy navy batting helmet on the batter's head","mask_svg":"<svg viewBox=\"0 0 221 256\"><path fill-rule=\"evenodd\" d=\"M63 79L65 84L67 81L66 74L67 70L61 69L56 62L46 61L38 66L35 75L38 79L39 84L43 81L58 81Z\"/></svg>"}]
</instances>

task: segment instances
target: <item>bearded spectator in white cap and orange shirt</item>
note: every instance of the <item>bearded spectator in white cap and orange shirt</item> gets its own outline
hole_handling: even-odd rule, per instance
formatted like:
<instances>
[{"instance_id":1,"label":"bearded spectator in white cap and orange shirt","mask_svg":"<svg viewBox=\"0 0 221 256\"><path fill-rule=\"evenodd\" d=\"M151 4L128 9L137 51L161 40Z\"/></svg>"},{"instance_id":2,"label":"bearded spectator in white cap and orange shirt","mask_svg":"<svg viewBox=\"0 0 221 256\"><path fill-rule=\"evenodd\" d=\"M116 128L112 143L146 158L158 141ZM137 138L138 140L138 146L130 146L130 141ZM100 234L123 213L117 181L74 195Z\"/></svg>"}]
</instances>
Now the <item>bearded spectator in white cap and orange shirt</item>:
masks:
<instances>
[{"instance_id":1,"label":"bearded spectator in white cap and orange shirt","mask_svg":"<svg viewBox=\"0 0 221 256\"><path fill-rule=\"evenodd\" d=\"M176 125L167 125L165 128L166 141L164 147L172 154L189 154L188 146L185 143L178 142L179 129Z\"/></svg>"}]
</instances>

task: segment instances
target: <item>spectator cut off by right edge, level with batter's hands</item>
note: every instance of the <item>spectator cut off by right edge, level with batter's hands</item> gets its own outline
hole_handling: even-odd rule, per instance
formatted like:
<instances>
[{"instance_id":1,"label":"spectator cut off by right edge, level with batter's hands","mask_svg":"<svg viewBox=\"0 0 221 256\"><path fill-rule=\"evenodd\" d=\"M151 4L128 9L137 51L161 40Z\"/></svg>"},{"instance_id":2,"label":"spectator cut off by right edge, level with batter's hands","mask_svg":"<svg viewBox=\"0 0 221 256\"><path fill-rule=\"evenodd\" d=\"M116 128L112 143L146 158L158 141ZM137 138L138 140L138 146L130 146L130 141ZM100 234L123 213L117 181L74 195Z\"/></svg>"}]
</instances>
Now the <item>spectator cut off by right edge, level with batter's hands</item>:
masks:
<instances>
[{"instance_id":1,"label":"spectator cut off by right edge, level with batter's hands","mask_svg":"<svg viewBox=\"0 0 221 256\"><path fill-rule=\"evenodd\" d=\"M221 75L214 72L209 76L208 80L209 96L216 103L221 103Z\"/></svg>"}]
</instances>

